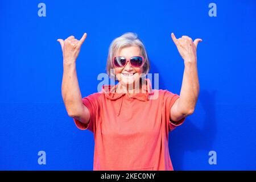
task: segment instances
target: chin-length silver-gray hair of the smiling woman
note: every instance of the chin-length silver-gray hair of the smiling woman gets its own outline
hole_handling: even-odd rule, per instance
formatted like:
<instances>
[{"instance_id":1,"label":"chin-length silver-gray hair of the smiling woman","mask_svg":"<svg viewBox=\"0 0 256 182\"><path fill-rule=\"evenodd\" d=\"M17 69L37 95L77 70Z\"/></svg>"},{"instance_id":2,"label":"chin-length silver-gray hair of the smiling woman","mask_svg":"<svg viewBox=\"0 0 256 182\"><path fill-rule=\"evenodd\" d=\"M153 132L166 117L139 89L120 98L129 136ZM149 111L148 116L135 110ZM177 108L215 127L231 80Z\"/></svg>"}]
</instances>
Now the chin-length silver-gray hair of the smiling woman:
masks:
<instances>
[{"instance_id":1,"label":"chin-length silver-gray hair of the smiling woman","mask_svg":"<svg viewBox=\"0 0 256 182\"><path fill-rule=\"evenodd\" d=\"M113 75L113 72L111 71L112 69L114 69L113 57L115 53L118 53L119 50L123 47L130 47L130 46L138 46L141 49L141 56L144 57L144 61L145 61L142 72L144 73L144 75L147 75L147 73L149 72L150 63L149 63L146 49L141 39L138 38L137 34L132 32L127 32L122 36L115 38L110 44L109 55L108 55L108 60L106 64L106 72L108 73L110 78L115 77L115 75Z\"/></svg>"}]
</instances>

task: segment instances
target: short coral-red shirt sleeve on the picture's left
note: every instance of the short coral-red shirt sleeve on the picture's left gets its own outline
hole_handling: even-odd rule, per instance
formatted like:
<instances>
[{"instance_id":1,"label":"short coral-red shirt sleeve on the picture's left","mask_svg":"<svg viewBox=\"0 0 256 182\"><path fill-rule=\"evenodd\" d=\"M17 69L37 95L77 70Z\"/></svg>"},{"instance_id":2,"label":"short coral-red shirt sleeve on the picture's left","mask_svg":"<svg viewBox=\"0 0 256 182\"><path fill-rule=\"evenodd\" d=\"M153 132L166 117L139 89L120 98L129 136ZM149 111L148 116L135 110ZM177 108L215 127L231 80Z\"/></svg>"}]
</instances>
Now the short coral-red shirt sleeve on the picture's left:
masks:
<instances>
[{"instance_id":1,"label":"short coral-red shirt sleeve on the picture's left","mask_svg":"<svg viewBox=\"0 0 256 182\"><path fill-rule=\"evenodd\" d=\"M82 98L82 104L84 104L89 110L90 120L88 124L85 124L73 118L76 126L80 130L88 129L89 131L92 131L92 133L95 133L97 120L100 117L100 94L101 93L93 93L87 97Z\"/></svg>"}]
</instances>

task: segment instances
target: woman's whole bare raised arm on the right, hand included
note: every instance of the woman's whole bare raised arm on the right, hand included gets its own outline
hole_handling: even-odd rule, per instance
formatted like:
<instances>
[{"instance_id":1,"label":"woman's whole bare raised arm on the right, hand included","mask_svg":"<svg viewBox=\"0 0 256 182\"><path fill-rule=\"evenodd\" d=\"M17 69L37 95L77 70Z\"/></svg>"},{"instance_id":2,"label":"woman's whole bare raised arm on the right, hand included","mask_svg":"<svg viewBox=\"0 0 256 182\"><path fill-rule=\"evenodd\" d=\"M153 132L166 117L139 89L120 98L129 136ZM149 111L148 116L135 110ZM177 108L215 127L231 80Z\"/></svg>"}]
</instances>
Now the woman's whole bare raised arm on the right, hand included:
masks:
<instances>
[{"instance_id":1,"label":"woman's whole bare raised arm on the right, hand included","mask_svg":"<svg viewBox=\"0 0 256 182\"><path fill-rule=\"evenodd\" d=\"M195 39L193 42L188 36L182 36L179 39L176 39L173 33L171 36L181 57L184 59L185 65L180 98L175 101L170 111L170 119L172 121L179 121L194 112L199 96L196 49L197 44L202 39Z\"/></svg>"}]
</instances>

